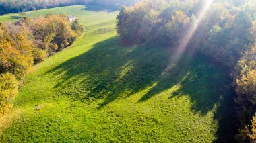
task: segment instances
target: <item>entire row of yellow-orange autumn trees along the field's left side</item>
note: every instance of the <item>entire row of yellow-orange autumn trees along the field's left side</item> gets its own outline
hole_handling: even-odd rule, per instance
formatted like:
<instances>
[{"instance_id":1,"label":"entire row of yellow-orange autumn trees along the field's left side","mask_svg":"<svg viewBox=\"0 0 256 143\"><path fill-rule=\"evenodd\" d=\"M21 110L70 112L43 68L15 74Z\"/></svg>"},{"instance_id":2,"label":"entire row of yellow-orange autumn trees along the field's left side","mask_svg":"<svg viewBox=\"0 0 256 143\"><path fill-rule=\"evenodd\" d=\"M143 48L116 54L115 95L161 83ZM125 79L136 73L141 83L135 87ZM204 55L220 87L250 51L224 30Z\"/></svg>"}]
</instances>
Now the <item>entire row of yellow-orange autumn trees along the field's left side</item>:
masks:
<instances>
[{"instance_id":1,"label":"entire row of yellow-orange autumn trees along the field's left side","mask_svg":"<svg viewBox=\"0 0 256 143\"><path fill-rule=\"evenodd\" d=\"M83 31L78 20L70 24L63 14L0 23L0 115L32 66L71 45Z\"/></svg>"}]
</instances>

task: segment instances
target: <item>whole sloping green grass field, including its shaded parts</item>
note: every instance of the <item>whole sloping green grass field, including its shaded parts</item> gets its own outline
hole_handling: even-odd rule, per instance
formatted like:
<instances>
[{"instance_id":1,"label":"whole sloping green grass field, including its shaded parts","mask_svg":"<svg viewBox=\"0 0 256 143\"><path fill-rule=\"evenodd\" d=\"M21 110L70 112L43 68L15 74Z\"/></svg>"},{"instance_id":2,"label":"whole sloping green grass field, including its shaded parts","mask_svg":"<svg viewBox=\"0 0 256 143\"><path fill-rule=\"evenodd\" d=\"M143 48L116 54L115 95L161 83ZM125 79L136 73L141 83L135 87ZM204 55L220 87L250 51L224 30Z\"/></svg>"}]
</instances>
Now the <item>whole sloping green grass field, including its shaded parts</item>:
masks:
<instances>
[{"instance_id":1,"label":"whole sloping green grass field, including its shaded parts","mask_svg":"<svg viewBox=\"0 0 256 143\"><path fill-rule=\"evenodd\" d=\"M1 142L232 141L234 93L224 68L191 51L172 64L172 48L120 46L118 11L78 5L26 15L47 13L75 15L86 32L24 79L0 119Z\"/></svg>"}]
</instances>

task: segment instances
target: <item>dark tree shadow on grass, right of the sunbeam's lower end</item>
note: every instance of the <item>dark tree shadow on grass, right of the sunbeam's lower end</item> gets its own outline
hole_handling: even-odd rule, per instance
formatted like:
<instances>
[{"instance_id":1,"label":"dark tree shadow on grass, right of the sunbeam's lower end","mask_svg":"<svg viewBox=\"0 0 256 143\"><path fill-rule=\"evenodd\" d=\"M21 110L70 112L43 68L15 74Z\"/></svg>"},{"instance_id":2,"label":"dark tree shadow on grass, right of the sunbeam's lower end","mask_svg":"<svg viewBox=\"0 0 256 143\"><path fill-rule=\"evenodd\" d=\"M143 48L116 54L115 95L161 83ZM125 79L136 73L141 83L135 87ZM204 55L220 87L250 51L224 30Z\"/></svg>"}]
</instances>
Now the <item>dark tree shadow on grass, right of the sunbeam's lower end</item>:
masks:
<instances>
[{"instance_id":1,"label":"dark tree shadow on grass, right of the sunbeam's lower end","mask_svg":"<svg viewBox=\"0 0 256 143\"><path fill-rule=\"evenodd\" d=\"M164 75L157 80L154 86L139 101L147 101L154 95L158 95L174 85L179 89L170 95L170 99L189 96L191 111L207 115L216 108L215 120L218 120L217 140L215 142L236 142L236 118L234 97L235 93L230 83L225 67L215 65L202 55L195 54L191 57L183 57L177 65L173 65L164 71Z\"/></svg>"}]
</instances>

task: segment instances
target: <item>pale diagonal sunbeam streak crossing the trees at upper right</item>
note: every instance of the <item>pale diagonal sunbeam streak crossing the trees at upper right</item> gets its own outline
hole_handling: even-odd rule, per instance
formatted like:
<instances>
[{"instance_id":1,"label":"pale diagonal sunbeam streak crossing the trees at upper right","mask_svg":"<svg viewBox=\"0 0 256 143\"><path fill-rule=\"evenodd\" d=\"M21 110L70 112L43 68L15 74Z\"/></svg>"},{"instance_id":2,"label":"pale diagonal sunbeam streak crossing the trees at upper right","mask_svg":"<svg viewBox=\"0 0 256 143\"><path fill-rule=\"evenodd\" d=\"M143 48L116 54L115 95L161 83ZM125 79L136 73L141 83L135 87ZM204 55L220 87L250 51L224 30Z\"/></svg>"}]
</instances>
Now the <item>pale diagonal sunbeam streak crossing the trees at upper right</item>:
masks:
<instances>
[{"instance_id":1,"label":"pale diagonal sunbeam streak crossing the trees at upper right","mask_svg":"<svg viewBox=\"0 0 256 143\"><path fill-rule=\"evenodd\" d=\"M199 11L199 17L195 20L195 22L193 23L193 26L191 26L191 28L189 28L187 34L185 34L185 36L182 38L181 44L177 47L177 50L176 50L176 52L172 58L172 61L171 61L172 64L177 64L177 62L179 61L181 56L183 56L183 53L185 52L187 45L191 41L191 38L193 37L197 28L199 27L199 24L205 17L205 14L207 13L208 9L210 9L210 5L212 5L213 1L214 0L205 1L203 8L201 9L201 11Z\"/></svg>"}]
</instances>

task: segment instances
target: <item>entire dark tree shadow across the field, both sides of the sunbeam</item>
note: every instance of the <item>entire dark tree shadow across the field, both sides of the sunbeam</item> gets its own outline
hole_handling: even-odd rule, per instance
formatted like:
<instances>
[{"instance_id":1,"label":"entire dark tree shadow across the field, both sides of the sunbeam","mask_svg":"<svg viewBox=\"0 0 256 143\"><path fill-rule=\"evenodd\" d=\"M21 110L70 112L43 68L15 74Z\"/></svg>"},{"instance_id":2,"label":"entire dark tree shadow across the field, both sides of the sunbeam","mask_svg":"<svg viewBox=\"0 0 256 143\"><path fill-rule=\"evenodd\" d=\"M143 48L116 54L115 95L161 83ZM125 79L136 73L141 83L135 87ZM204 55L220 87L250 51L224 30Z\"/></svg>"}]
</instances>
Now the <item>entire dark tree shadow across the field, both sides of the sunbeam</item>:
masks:
<instances>
[{"instance_id":1,"label":"entire dark tree shadow across the field, both sides of the sunbeam","mask_svg":"<svg viewBox=\"0 0 256 143\"><path fill-rule=\"evenodd\" d=\"M88 52L49 73L63 75L55 86L59 95L88 103L102 99L98 109L155 83L156 86L139 102L179 84L180 88L170 95L170 99L189 96L191 111L201 115L216 107L215 118L220 124L216 142L233 142L236 120L228 73L210 64L201 54L188 55L172 65L169 63L172 50L158 46L121 47L118 38L114 37L95 44Z\"/></svg>"}]
</instances>

